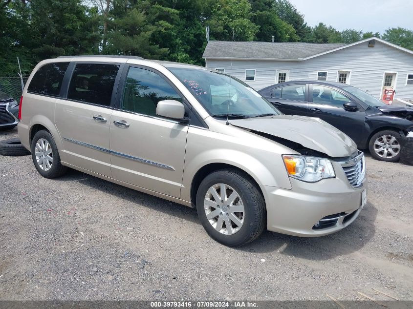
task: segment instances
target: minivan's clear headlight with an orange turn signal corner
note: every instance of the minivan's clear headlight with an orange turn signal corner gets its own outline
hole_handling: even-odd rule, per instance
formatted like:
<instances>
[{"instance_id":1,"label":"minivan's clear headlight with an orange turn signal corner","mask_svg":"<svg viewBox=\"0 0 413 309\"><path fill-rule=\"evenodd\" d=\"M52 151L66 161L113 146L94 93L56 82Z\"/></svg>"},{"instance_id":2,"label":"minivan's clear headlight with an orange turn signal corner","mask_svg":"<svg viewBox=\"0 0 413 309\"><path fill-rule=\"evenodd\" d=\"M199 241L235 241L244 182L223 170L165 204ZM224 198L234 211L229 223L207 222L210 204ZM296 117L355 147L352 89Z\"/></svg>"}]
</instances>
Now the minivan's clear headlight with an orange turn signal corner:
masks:
<instances>
[{"instance_id":1,"label":"minivan's clear headlight with an orange turn signal corner","mask_svg":"<svg viewBox=\"0 0 413 309\"><path fill-rule=\"evenodd\" d=\"M333 165L324 158L283 155L288 175L308 183L315 183L325 178L334 178Z\"/></svg>"}]
</instances>

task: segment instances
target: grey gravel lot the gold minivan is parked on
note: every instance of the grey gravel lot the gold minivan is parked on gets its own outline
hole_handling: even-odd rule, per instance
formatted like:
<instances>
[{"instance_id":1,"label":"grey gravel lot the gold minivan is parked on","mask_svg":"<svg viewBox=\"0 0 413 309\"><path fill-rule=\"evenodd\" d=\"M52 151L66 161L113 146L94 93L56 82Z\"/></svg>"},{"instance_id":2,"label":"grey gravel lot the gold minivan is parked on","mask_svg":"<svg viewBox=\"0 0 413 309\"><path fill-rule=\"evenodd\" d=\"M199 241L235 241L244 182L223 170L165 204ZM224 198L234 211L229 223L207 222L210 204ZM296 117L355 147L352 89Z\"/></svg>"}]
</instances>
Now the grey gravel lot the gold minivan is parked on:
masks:
<instances>
[{"instance_id":1,"label":"grey gravel lot the gold minivan is parked on","mask_svg":"<svg viewBox=\"0 0 413 309\"><path fill-rule=\"evenodd\" d=\"M0 131L0 140L17 130ZM196 210L0 156L1 300L413 300L413 166L367 155L369 203L321 238L219 245Z\"/></svg>"}]
</instances>

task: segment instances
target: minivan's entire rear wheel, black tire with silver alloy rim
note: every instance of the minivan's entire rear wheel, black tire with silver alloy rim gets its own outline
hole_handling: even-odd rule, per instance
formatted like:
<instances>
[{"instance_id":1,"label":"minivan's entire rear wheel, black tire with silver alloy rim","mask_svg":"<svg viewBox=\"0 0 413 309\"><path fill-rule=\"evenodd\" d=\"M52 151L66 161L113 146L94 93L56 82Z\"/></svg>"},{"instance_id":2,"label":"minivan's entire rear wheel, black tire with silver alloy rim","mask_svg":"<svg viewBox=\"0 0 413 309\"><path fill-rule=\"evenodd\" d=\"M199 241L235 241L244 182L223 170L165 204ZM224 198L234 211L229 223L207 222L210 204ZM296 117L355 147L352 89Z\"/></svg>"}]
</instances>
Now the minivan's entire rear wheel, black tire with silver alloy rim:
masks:
<instances>
[{"instance_id":1,"label":"minivan's entire rear wheel, black tire with silver alloy rim","mask_svg":"<svg viewBox=\"0 0 413 309\"><path fill-rule=\"evenodd\" d=\"M67 171L67 167L60 162L56 143L50 132L37 132L31 144L32 160L40 175L45 178L56 178Z\"/></svg>"}]
</instances>

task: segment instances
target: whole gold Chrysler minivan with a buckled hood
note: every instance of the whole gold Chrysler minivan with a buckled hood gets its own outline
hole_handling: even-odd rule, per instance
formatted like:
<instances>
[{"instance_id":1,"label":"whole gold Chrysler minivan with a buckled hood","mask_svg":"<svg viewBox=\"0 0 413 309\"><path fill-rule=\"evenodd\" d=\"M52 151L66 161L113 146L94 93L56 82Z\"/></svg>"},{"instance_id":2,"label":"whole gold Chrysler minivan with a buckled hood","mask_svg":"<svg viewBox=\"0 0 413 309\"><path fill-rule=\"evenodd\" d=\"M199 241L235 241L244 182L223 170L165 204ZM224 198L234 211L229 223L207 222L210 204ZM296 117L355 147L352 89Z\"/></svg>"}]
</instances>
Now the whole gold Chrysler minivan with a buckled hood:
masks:
<instances>
[{"instance_id":1,"label":"whole gold Chrysler minivan with a buckled hood","mask_svg":"<svg viewBox=\"0 0 413 309\"><path fill-rule=\"evenodd\" d=\"M27 81L19 119L43 177L70 167L196 207L208 234L228 246L264 228L330 234L367 201L364 154L347 135L318 118L283 115L245 83L204 67L128 56L45 60Z\"/></svg>"}]
</instances>

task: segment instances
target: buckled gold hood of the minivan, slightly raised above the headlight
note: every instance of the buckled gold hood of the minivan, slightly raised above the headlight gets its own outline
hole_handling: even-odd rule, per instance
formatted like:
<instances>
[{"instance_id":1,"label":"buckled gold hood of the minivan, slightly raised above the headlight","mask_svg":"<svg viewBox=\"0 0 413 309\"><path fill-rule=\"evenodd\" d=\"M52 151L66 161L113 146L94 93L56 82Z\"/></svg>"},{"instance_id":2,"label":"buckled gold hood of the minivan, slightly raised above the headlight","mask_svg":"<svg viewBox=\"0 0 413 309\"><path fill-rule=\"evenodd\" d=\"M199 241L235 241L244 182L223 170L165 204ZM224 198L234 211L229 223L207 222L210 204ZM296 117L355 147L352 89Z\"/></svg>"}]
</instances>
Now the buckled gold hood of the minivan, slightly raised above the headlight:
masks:
<instances>
[{"instance_id":1,"label":"buckled gold hood of the minivan, slightly raised above the headlight","mask_svg":"<svg viewBox=\"0 0 413 309\"><path fill-rule=\"evenodd\" d=\"M330 157L348 157L357 150L356 144L346 134L320 118L277 115L230 120L229 123L302 144Z\"/></svg>"}]
</instances>

